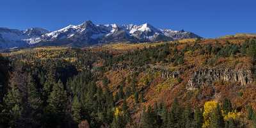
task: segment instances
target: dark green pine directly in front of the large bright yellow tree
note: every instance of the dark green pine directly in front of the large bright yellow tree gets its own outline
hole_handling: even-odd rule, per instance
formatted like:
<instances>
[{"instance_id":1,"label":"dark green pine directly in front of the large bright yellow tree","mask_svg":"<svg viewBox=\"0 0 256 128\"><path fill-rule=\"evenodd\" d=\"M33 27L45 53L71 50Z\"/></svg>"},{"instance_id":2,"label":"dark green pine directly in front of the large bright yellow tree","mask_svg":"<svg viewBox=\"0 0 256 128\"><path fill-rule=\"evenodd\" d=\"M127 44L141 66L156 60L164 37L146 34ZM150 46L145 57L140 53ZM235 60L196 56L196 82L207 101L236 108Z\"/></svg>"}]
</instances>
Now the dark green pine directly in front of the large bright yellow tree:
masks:
<instances>
[{"instance_id":1,"label":"dark green pine directly in front of the large bright yellow tree","mask_svg":"<svg viewBox=\"0 0 256 128\"><path fill-rule=\"evenodd\" d=\"M210 120L210 128L221 128L224 127L224 120L223 116L221 114L220 106L217 105L217 108L214 109L214 112L211 115L211 120Z\"/></svg>"}]
</instances>

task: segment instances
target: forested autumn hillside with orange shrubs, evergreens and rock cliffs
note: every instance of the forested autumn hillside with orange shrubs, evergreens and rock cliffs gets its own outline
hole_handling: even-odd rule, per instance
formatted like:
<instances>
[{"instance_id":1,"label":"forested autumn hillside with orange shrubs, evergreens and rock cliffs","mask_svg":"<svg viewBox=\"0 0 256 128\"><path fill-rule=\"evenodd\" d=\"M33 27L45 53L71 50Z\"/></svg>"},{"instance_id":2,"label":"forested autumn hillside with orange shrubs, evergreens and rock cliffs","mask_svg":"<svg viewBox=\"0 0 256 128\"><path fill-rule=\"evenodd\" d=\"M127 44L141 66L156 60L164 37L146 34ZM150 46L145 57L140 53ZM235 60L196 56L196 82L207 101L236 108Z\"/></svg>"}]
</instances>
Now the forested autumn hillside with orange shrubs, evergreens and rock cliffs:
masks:
<instances>
[{"instance_id":1,"label":"forested autumn hillside with orange shrubs, evergreens and rock cliffs","mask_svg":"<svg viewBox=\"0 0 256 128\"><path fill-rule=\"evenodd\" d=\"M0 79L3 126L210 127L215 116L221 127L255 125L254 36L36 47L2 56L9 63L0 68L8 70L0 74L8 79Z\"/></svg>"}]
</instances>

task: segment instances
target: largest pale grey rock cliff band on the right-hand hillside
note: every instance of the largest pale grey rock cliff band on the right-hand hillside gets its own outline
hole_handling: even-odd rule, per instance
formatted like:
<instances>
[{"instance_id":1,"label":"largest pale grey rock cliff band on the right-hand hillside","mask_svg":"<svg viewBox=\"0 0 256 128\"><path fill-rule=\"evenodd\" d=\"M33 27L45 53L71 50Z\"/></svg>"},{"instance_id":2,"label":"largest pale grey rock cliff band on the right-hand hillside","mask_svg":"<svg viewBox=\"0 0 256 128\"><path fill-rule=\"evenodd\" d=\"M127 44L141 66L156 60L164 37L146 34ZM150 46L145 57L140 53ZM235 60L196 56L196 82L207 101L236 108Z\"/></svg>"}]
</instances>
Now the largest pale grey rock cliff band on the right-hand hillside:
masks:
<instances>
[{"instance_id":1,"label":"largest pale grey rock cliff band on the right-hand hillside","mask_svg":"<svg viewBox=\"0 0 256 128\"><path fill-rule=\"evenodd\" d=\"M188 81L188 90L199 88L201 85L211 85L215 81L239 82L242 85L253 82L252 71L246 69L212 67L202 68L194 72Z\"/></svg>"}]
</instances>

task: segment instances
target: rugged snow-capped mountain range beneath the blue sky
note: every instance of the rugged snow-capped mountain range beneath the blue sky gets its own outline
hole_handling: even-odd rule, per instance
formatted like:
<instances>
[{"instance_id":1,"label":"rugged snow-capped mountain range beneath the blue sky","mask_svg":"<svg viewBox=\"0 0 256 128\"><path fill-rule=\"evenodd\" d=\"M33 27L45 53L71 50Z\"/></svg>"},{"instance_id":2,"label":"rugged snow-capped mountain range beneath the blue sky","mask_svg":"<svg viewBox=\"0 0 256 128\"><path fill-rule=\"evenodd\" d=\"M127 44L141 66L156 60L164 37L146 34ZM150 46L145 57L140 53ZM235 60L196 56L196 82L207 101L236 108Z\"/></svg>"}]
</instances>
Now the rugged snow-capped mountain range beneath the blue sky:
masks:
<instances>
[{"instance_id":1,"label":"rugged snow-capped mountain range beneath the blue sky","mask_svg":"<svg viewBox=\"0 0 256 128\"><path fill-rule=\"evenodd\" d=\"M88 20L77 26L70 25L57 31L30 28L25 31L0 28L0 49L36 45L92 45L108 42L154 42L201 38L187 31L158 29L150 24L96 25Z\"/></svg>"}]
</instances>

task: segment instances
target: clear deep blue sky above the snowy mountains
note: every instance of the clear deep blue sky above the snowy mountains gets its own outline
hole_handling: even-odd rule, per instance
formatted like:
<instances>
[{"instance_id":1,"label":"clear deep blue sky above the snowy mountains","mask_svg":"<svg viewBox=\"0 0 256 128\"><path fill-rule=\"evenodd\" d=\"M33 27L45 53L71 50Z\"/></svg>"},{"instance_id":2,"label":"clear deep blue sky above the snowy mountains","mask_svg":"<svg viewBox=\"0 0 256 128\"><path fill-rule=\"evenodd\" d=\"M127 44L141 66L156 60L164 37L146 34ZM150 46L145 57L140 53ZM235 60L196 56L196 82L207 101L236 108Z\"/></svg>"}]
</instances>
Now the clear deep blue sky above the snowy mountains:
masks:
<instances>
[{"instance_id":1,"label":"clear deep blue sky above the snowy mountains","mask_svg":"<svg viewBox=\"0 0 256 128\"><path fill-rule=\"evenodd\" d=\"M255 0L1 0L0 26L49 30L92 20L184 29L203 37L256 33Z\"/></svg>"}]
</instances>

